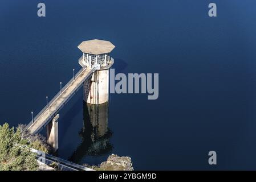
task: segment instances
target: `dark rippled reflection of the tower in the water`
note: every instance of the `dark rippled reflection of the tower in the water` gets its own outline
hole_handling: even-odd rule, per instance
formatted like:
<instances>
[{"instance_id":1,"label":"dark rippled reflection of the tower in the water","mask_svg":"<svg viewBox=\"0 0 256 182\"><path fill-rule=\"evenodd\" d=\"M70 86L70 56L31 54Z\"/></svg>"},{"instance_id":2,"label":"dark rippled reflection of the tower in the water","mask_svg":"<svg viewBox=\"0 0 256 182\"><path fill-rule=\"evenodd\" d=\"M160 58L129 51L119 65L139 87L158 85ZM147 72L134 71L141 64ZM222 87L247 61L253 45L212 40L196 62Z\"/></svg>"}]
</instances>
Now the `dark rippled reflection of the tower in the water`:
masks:
<instances>
[{"instance_id":1,"label":"dark rippled reflection of the tower in the water","mask_svg":"<svg viewBox=\"0 0 256 182\"><path fill-rule=\"evenodd\" d=\"M108 128L108 102L100 105L83 104L84 127L79 132L82 142L70 156L70 161L80 163L86 156L110 154L112 131Z\"/></svg>"}]
</instances>

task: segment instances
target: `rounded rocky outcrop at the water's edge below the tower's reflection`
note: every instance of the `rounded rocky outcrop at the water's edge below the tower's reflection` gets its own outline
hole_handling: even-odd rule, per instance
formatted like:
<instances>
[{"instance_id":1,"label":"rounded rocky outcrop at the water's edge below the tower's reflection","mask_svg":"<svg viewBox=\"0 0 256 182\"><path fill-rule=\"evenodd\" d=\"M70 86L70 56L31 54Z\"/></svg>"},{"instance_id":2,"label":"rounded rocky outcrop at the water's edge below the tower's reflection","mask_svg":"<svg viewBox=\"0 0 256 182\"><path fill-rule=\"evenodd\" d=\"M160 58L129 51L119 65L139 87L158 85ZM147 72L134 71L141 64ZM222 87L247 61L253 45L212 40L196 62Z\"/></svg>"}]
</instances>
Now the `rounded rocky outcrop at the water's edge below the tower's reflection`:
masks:
<instances>
[{"instance_id":1,"label":"rounded rocky outcrop at the water's edge below the tower's reflection","mask_svg":"<svg viewBox=\"0 0 256 182\"><path fill-rule=\"evenodd\" d=\"M100 164L99 170L103 171L133 171L130 157L119 157L115 154L109 155L106 162Z\"/></svg>"}]
</instances>

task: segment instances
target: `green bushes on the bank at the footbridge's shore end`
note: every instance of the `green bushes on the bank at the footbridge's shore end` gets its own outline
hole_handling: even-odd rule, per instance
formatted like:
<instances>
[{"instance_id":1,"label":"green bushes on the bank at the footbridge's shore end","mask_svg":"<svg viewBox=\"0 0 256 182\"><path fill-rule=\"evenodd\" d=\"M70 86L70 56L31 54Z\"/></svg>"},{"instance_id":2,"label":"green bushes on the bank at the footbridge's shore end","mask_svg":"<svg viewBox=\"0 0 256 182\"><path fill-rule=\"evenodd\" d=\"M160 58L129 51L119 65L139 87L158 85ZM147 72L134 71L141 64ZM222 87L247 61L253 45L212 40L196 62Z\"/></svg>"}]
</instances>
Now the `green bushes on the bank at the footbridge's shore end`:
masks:
<instances>
[{"instance_id":1,"label":"green bushes on the bank at the footbridge's shore end","mask_svg":"<svg viewBox=\"0 0 256 182\"><path fill-rule=\"evenodd\" d=\"M7 123L0 126L1 171L37 170L36 155L30 148L47 152L47 148L39 140L30 142L27 138L23 138L20 127L15 131L14 127L9 129Z\"/></svg>"}]
</instances>

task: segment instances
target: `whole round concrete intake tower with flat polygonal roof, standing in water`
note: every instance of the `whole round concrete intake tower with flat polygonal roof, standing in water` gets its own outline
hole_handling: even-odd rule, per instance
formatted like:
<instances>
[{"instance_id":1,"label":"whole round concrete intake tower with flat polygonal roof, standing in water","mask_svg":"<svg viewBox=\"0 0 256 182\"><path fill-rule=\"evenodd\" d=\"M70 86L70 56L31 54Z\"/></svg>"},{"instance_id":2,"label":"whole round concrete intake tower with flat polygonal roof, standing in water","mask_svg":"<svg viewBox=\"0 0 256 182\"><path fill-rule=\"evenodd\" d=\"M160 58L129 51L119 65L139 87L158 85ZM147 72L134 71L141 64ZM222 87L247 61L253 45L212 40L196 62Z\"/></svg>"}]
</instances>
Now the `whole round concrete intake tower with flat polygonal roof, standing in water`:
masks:
<instances>
[{"instance_id":1,"label":"whole round concrete intake tower with flat polygonal roof, standing in water","mask_svg":"<svg viewBox=\"0 0 256 182\"><path fill-rule=\"evenodd\" d=\"M83 99L89 104L103 104L108 101L109 69L114 63L109 53L115 46L105 40L87 40L78 48L83 56L78 60L83 68L94 68L92 77L84 82Z\"/></svg>"}]
</instances>

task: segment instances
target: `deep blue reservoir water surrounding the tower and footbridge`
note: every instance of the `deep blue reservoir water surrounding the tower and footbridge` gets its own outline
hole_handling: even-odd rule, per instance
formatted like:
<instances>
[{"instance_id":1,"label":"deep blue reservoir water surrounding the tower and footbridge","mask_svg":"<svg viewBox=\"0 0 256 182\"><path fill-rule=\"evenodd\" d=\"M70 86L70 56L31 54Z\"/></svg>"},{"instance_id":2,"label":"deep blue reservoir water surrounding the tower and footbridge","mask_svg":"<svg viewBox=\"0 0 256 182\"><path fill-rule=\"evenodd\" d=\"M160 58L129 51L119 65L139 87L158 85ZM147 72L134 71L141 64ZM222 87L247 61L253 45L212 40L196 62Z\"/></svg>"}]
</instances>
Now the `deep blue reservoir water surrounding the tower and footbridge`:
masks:
<instances>
[{"instance_id":1,"label":"deep blue reservoir water surrounding the tower and footbridge","mask_svg":"<svg viewBox=\"0 0 256 182\"><path fill-rule=\"evenodd\" d=\"M1 124L27 123L44 107L80 69L80 42L109 40L116 72L159 73L159 99L111 94L99 133L79 90L59 113L60 157L99 164L113 153L131 156L135 169L256 169L254 0L215 0L217 18L205 0L44 0L45 18L39 2L0 1Z\"/></svg>"}]
</instances>

